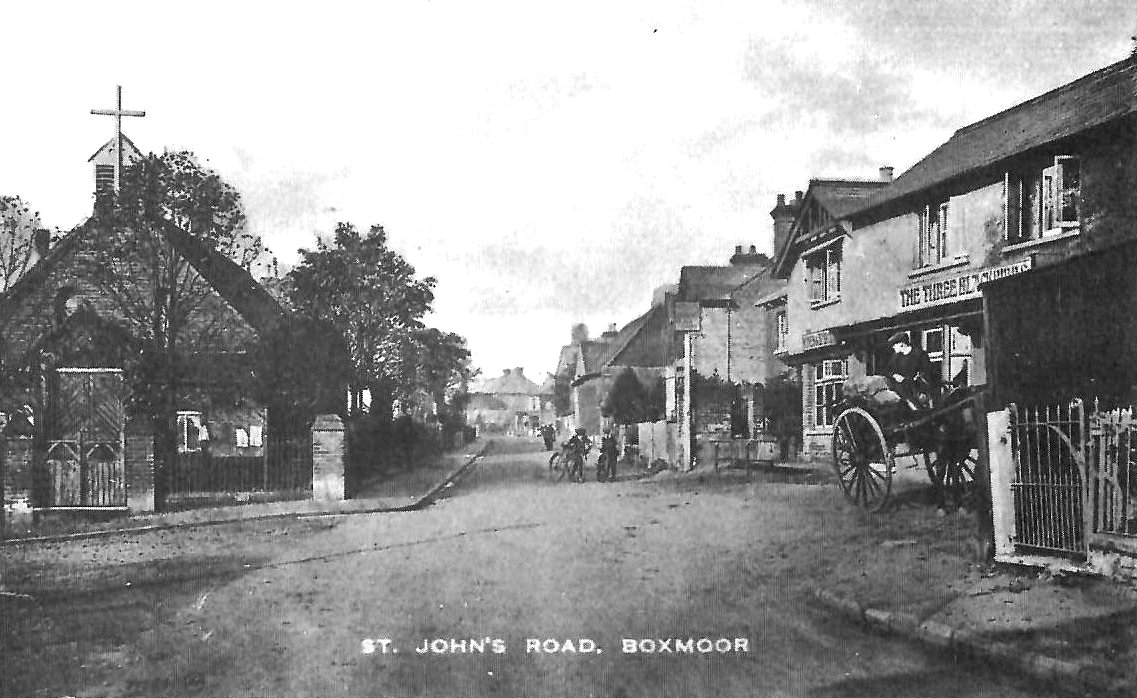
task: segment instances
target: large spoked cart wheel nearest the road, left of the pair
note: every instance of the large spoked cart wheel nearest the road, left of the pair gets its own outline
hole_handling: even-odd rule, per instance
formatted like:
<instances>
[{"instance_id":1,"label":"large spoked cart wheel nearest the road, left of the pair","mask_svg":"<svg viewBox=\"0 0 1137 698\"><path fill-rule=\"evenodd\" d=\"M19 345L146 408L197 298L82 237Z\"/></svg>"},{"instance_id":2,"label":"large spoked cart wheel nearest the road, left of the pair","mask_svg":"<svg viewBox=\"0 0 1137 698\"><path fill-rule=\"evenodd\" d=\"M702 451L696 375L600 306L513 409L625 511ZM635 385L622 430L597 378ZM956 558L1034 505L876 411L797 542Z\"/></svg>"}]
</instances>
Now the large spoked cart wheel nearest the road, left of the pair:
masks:
<instances>
[{"instance_id":1,"label":"large spoked cart wheel nearest the road, left of the pair","mask_svg":"<svg viewBox=\"0 0 1137 698\"><path fill-rule=\"evenodd\" d=\"M860 407L833 423L833 465L841 490L853 504L879 512L893 490L893 449L880 424Z\"/></svg>"}]
</instances>

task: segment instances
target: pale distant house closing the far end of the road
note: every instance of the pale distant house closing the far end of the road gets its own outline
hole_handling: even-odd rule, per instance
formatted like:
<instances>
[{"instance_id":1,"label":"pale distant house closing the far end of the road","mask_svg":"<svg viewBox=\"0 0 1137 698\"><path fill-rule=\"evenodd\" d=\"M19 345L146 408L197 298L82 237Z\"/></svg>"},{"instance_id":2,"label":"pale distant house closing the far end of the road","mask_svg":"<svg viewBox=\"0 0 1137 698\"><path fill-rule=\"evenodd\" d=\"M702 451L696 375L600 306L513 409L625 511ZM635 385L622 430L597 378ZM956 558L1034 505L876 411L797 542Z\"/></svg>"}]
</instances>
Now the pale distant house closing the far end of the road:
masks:
<instances>
[{"instance_id":1,"label":"pale distant house closing the far end of the road","mask_svg":"<svg viewBox=\"0 0 1137 698\"><path fill-rule=\"evenodd\" d=\"M508 434L530 433L551 416L551 396L525 376L522 367L470 388L466 421L480 430Z\"/></svg>"}]
</instances>

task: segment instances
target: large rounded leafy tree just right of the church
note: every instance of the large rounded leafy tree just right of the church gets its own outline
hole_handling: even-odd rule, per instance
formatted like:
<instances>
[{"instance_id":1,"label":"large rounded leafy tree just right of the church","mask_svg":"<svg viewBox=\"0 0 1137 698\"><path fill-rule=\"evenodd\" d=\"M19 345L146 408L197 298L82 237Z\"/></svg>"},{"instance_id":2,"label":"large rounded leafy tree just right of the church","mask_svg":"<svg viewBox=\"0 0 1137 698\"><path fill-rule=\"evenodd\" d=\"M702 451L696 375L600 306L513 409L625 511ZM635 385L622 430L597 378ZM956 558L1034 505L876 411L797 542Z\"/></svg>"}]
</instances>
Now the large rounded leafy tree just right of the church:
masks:
<instances>
[{"instance_id":1,"label":"large rounded leafy tree just right of the church","mask_svg":"<svg viewBox=\"0 0 1137 698\"><path fill-rule=\"evenodd\" d=\"M342 333L354 374L349 412L360 412L365 389L372 392L372 408L382 413L396 398L409 398L434 279L417 279L414 267L388 247L379 225L362 234L340 223L331 241L317 241L315 250L302 249L300 257L289 273L292 305Z\"/></svg>"}]
</instances>

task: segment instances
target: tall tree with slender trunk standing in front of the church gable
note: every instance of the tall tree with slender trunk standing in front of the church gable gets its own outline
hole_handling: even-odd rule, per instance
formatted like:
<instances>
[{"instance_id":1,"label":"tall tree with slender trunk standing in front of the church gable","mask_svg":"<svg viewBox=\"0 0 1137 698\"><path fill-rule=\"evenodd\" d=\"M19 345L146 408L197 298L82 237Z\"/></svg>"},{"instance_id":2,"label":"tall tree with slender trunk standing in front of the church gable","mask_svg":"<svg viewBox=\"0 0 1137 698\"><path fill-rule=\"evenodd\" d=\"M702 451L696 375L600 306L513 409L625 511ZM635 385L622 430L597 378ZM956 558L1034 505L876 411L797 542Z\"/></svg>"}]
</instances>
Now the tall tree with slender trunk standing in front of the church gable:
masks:
<instances>
[{"instance_id":1,"label":"tall tree with slender trunk standing in front of the church gable","mask_svg":"<svg viewBox=\"0 0 1137 698\"><path fill-rule=\"evenodd\" d=\"M163 506L166 474L177 454L177 393L182 362L224 327L216 313L190 318L215 302L209 284L171 240L175 226L251 268L266 251L244 230L241 196L190 152L153 153L126 171L119 191L100 197L92 235L92 279L135 341L132 409L156 427L155 482Z\"/></svg>"}]
</instances>

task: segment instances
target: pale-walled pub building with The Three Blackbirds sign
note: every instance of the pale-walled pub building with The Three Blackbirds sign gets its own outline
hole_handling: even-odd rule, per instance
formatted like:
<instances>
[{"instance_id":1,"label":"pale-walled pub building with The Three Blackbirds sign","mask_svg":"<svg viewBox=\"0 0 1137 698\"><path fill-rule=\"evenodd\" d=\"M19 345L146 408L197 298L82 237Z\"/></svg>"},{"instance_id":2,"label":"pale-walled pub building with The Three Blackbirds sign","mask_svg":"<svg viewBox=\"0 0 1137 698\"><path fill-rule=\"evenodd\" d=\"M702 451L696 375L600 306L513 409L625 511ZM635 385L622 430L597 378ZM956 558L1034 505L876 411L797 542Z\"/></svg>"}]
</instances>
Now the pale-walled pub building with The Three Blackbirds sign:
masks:
<instances>
[{"instance_id":1,"label":"pale-walled pub building with The Three Blackbirds sign","mask_svg":"<svg viewBox=\"0 0 1137 698\"><path fill-rule=\"evenodd\" d=\"M986 384L984 283L1137 236L1135 77L1127 58L960 128L891 182L811 183L775 267L807 456L831 448L841 382L887 372L893 333L944 382Z\"/></svg>"}]
</instances>

